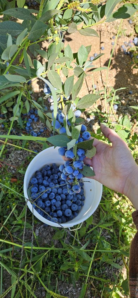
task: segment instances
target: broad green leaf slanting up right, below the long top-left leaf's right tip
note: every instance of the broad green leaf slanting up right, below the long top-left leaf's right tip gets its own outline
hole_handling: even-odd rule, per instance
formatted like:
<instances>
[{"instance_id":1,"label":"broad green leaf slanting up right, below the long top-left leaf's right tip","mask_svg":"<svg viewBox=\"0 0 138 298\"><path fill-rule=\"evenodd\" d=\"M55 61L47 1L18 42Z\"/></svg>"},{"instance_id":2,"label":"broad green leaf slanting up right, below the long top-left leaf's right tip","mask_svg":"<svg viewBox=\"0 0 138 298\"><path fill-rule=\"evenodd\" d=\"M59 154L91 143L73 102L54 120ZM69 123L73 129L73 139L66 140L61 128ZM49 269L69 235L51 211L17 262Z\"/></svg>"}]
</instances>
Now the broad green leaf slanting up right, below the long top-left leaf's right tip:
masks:
<instances>
[{"instance_id":1,"label":"broad green leaf slanting up right, below the long top-left leaf's right tip","mask_svg":"<svg viewBox=\"0 0 138 298\"><path fill-rule=\"evenodd\" d=\"M46 31L47 27L48 26L46 24L37 20L29 33L28 39L34 41L34 40L40 38Z\"/></svg>"}]
</instances>

